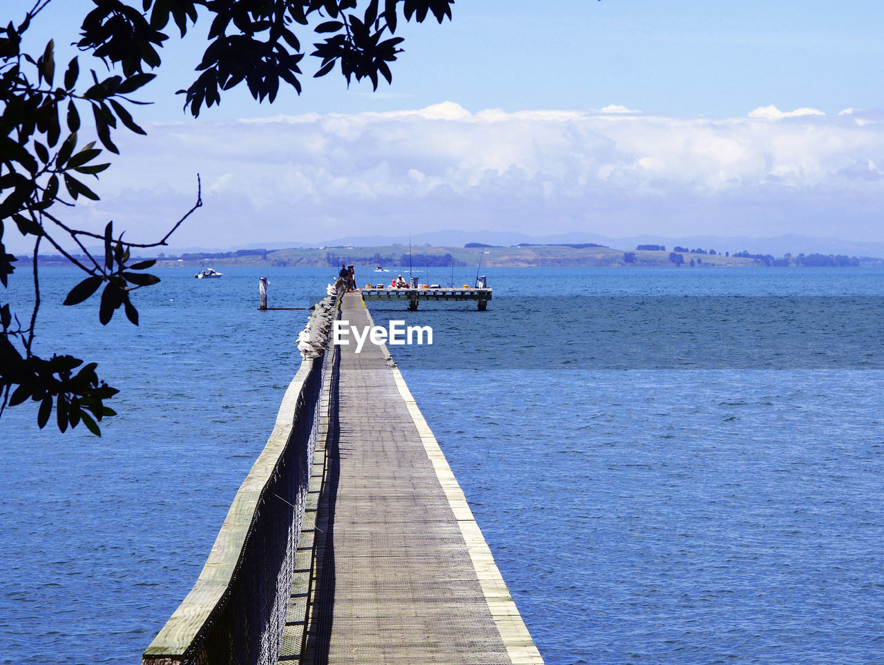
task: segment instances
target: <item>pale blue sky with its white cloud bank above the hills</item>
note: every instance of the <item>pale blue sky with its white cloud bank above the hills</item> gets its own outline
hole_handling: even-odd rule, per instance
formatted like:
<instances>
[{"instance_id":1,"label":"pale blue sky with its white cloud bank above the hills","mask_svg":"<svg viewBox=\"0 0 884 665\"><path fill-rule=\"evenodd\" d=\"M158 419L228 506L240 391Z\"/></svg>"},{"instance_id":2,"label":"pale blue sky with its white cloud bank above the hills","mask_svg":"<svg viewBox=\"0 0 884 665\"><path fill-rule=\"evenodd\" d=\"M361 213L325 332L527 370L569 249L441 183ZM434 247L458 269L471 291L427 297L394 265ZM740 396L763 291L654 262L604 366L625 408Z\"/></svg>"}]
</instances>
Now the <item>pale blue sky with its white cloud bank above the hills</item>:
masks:
<instances>
[{"instance_id":1,"label":"pale blue sky with its white cloud bank above the hills","mask_svg":"<svg viewBox=\"0 0 884 665\"><path fill-rule=\"evenodd\" d=\"M34 42L72 42L84 8L54 0ZM149 135L118 134L103 200L72 221L154 239L199 172L205 206L172 248L446 229L884 241L884 3L461 0L401 30L377 93L313 80L305 58L301 96L232 90L194 120L174 91L203 24L171 33L135 111Z\"/></svg>"}]
</instances>

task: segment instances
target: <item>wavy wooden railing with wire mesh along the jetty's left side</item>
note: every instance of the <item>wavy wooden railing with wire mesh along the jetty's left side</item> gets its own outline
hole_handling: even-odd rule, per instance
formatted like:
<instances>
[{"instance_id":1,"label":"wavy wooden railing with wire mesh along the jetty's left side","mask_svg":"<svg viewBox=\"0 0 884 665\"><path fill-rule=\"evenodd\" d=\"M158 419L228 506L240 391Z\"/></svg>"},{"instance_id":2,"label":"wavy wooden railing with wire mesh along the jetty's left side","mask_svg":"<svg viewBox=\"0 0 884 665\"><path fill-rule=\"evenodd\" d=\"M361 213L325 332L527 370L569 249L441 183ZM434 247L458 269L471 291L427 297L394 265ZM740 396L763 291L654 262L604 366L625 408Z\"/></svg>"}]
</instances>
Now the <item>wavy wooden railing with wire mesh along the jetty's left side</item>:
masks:
<instances>
[{"instance_id":1,"label":"wavy wooden railing with wire mesh along the jetty's left side","mask_svg":"<svg viewBox=\"0 0 884 665\"><path fill-rule=\"evenodd\" d=\"M200 577L143 665L276 663L333 355L304 358Z\"/></svg>"}]
</instances>

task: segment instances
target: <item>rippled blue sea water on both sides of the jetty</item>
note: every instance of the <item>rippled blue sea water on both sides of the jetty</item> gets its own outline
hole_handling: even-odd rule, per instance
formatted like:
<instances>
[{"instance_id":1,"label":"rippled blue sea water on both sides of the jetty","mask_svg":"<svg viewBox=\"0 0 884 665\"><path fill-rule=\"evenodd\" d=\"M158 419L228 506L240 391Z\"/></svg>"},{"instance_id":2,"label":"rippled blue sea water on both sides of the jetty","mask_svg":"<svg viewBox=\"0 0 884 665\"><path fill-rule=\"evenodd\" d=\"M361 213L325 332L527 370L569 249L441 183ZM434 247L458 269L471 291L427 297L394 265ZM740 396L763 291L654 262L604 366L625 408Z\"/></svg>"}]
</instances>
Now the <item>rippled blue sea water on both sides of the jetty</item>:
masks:
<instances>
[{"instance_id":1,"label":"rippled blue sea water on both sides of the jetty","mask_svg":"<svg viewBox=\"0 0 884 665\"><path fill-rule=\"evenodd\" d=\"M123 392L100 440L0 418L4 663L139 659L300 363L257 277L306 307L331 272L160 271L102 328L45 271L42 344ZM486 312L370 310L432 325L392 353L546 662L884 660L884 271L487 273Z\"/></svg>"}]
</instances>

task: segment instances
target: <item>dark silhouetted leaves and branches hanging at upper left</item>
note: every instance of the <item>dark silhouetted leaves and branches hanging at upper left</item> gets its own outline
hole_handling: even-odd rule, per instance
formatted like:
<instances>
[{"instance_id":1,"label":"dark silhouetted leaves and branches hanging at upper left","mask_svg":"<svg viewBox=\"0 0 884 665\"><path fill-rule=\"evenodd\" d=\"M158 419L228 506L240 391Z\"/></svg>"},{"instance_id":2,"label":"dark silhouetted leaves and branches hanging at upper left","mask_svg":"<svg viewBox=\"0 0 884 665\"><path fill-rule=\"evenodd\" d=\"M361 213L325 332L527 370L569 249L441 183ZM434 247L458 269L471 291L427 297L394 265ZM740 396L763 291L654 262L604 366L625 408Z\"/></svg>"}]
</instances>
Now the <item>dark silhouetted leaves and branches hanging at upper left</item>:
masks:
<instances>
[{"instance_id":1,"label":"dark silhouetted leaves and branches hanging at upper left","mask_svg":"<svg viewBox=\"0 0 884 665\"><path fill-rule=\"evenodd\" d=\"M132 115L141 103L132 95L153 79L149 70L162 64L160 50L170 22L183 37L196 21L210 22L208 45L194 82L179 93L185 108L198 116L203 106L220 103L221 92L240 83L259 102L272 102L280 84L301 92L301 60L309 49L296 32L316 34L310 55L318 60L314 76L337 65L347 80L392 80L390 63L401 52L394 36L399 13L423 22L432 16L441 23L451 18L453 0L94 0L80 27L80 50L103 60L110 76L94 70L83 75L79 57L56 63L54 42L29 53L23 43L34 19L50 0L34 0L23 17L0 22L0 283L4 289L15 271L16 256L7 253L4 232L33 241L31 274L34 306L23 322L0 302L0 416L7 406L40 402L37 424L45 426L52 410L58 428L83 423L99 434L96 421L113 415L104 401L116 394L95 373L95 363L83 365L72 355L37 355L34 346L40 309L39 250L48 244L85 273L72 287L65 305L84 302L100 292L98 319L107 324L122 309L138 325L133 291L156 284L145 272L155 261L133 258L133 248L167 244L171 233L202 205L197 176L194 206L171 224L163 238L149 242L124 240L108 222L103 233L65 224L59 212L82 196L99 200L90 179L110 165L106 153L118 153L114 133L122 128L145 134ZM59 3L60 4L60 3ZM362 9L357 10L357 5ZM350 10L353 10L352 12ZM49 12L47 11L47 14ZM44 15L41 19L45 19ZM310 27L310 26L314 27ZM95 141L84 136L95 136ZM98 243L93 255L86 243ZM70 248L74 247L73 253ZM263 251L263 250L262 250ZM4 291L4 294L6 291ZM4 296L4 300L5 300ZM77 368L80 368L79 371ZM74 373L76 371L76 373Z\"/></svg>"}]
</instances>

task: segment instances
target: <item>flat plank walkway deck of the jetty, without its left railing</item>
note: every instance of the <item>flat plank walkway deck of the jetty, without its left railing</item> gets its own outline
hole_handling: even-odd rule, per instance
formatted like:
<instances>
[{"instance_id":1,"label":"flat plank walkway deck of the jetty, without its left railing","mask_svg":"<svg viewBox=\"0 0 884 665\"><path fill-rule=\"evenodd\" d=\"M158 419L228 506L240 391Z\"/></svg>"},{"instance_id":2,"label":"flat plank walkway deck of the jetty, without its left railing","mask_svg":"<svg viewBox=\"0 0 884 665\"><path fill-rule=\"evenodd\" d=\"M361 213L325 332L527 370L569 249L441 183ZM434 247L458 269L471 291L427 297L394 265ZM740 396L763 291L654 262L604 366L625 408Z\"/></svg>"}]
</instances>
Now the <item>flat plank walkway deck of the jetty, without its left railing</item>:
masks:
<instances>
[{"instance_id":1,"label":"flat plank walkway deck of the jetty, without its left railing","mask_svg":"<svg viewBox=\"0 0 884 665\"><path fill-rule=\"evenodd\" d=\"M373 325L358 293L341 318ZM339 349L313 562L300 558L279 661L543 663L389 352Z\"/></svg>"}]
</instances>

